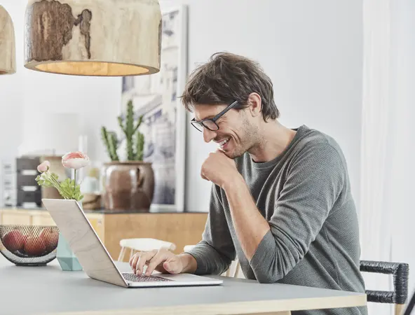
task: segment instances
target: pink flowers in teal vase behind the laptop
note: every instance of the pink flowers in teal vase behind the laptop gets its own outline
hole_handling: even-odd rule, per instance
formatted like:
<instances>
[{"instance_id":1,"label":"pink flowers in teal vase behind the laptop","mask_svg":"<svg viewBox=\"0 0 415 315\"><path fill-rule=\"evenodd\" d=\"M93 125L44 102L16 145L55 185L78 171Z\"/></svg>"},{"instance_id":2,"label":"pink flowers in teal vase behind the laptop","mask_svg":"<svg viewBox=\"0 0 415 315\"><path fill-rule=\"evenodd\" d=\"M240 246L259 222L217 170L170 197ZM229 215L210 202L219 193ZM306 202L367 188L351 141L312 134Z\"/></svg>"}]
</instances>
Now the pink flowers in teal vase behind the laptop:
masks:
<instances>
[{"instance_id":1,"label":"pink flowers in teal vase behind the laptop","mask_svg":"<svg viewBox=\"0 0 415 315\"><path fill-rule=\"evenodd\" d=\"M36 177L36 182L42 187L56 188L62 198L74 199L82 207L83 195L81 194L81 186L76 180L76 170L86 167L89 161L88 155L82 152L71 152L62 156L62 165L67 169L74 169L74 178L60 181L57 174L50 172L50 162L45 160L37 167L41 174ZM57 241L56 258L62 270L82 270L79 260L60 233Z\"/></svg>"}]
</instances>

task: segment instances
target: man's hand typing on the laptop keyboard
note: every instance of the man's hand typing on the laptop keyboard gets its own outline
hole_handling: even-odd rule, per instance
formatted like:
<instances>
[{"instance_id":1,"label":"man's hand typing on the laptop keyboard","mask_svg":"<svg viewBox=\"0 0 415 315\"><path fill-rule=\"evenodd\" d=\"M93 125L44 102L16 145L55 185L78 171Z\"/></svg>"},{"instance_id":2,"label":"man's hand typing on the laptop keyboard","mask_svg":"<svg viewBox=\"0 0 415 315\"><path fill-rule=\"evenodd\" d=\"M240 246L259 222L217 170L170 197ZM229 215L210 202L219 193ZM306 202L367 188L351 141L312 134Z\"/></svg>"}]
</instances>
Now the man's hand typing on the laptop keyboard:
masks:
<instances>
[{"instance_id":1,"label":"man's hand typing on the laptop keyboard","mask_svg":"<svg viewBox=\"0 0 415 315\"><path fill-rule=\"evenodd\" d=\"M183 272L182 258L167 249L135 253L130 259L132 272L142 275L144 265L147 265L145 275L150 276L154 270L162 273L179 274Z\"/></svg>"}]
</instances>

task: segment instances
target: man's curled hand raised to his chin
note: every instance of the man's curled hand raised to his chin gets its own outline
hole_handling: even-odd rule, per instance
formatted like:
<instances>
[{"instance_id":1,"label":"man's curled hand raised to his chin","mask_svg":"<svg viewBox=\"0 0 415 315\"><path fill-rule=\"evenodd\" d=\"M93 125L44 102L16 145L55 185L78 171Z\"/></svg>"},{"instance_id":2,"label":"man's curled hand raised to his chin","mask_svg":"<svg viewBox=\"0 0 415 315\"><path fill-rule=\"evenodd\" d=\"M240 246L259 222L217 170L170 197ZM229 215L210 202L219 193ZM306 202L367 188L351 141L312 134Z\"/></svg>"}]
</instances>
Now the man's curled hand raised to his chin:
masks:
<instances>
[{"instance_id":1,"label":"man's curled hand raised to his chin","mask_svg":"<svg viewBox=\"0 0 415 315\"><path fill-rule=\"evenodd\" d=\"M215 183L217 186L224 188L227 180L233 179L240 175L236 169L235 161L228 158L225 153L217 150L210 153L205 162L203 162L200 176L207 181Z\"/></svg>"}]
</instances>

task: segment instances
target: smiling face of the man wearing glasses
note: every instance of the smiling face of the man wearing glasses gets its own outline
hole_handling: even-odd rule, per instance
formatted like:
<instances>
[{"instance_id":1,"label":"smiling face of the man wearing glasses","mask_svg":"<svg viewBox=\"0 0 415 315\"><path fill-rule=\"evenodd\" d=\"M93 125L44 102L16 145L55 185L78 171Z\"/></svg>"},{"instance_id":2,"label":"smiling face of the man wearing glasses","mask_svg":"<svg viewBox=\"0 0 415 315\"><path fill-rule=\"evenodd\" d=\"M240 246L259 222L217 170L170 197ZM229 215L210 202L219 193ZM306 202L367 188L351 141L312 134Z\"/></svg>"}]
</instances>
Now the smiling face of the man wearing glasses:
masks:
<instances>
[{"instance_id":1,"label":"smiling face of the man wearing glasses","mask_svg":"<svg viewBox=\"0 0 415 315\"><path fill-rule=\"evenodd\" d=\"M197 121L213 118L226 109L226 105L194 106L194 115ZM257 141L257 128L250 120L249 110L231 109L216 120L219 130L211 131L203 127L203 139L205 142L215 141L219 148L229 157L238 158L254 146Z\"/></svg>"}]
</instances>

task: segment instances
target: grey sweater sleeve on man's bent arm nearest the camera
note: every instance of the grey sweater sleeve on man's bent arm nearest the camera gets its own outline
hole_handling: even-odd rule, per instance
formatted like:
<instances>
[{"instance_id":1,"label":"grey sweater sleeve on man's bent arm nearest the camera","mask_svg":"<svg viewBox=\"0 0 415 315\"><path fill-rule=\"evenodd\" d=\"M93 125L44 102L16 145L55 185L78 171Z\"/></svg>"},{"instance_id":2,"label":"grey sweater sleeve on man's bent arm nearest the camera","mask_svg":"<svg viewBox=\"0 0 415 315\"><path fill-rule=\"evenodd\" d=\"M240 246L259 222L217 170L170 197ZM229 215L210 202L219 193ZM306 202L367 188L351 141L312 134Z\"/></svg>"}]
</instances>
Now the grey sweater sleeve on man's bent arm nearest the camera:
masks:
<instances>
[{"instance_id":1,"label":"grey sweater sleeve on man's bent arm nearest the camera","mask_svg":"<svg viewBox=\"0 0 415 315\"><path fill-rule=\"evenodd\" d=\"M306 147L292 160L268 222L271 230L250 260L259 282L282 279L306 255L345 181L341 155L329 144Z\"/></svg>"}]
</instances>

